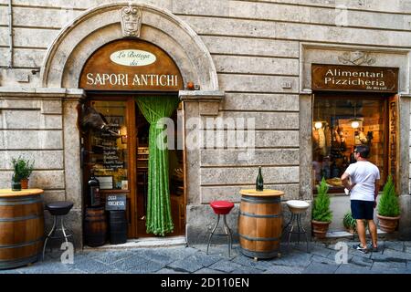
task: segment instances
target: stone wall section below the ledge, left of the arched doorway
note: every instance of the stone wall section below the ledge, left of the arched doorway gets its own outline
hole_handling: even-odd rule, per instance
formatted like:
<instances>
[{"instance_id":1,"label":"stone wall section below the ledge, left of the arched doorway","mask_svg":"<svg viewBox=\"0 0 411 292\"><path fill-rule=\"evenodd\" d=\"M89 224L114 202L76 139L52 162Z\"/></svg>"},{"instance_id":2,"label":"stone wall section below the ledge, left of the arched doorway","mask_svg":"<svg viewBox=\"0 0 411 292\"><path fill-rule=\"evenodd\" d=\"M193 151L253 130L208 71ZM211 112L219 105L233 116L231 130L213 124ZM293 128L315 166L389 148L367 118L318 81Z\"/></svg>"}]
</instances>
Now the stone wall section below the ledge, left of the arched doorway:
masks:
<instances>
[{"instance_id":1,"label":"stone wall section below the ledge, left of the arched doorway","mask_svg":"<svg viewBox=\"0 0 411 292\"><path fill-rule=\"evenodd\" d=\"M68 109L67 105L77 106L82 90L75 94L53 89L30 91L0 92L0 188L11 187L12 158L21 156L34 162L28 187L43 189L45 203L64 200L74 203L67 226L74 231L80 245L81 201L79 190L72 192L79 185L72 183L73 178L80 179L79 135L76 139L76 135L68 132L77 127L77 111ZM68 123L71 126L63 128ZM52 220L47 212L45 218L48 230Z\"/></svg>"}]
</instances>

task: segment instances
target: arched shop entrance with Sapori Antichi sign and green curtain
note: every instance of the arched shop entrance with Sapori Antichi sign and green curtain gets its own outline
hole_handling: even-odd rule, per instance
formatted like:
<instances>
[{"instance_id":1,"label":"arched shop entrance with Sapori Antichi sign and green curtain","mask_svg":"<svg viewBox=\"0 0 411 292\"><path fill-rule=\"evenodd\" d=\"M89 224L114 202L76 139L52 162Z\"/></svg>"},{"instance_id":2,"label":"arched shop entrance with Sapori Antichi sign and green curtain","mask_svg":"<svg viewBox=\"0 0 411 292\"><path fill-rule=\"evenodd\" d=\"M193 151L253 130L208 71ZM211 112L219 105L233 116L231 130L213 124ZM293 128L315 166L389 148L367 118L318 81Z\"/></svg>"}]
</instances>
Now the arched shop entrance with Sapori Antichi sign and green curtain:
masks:
<instances>
[{"instance_id":1,"label":"arched shop entrance with Sapori Antichi sign and green curtain","mask_svg":"<svg viewBox=\"0 0 411 292\"><path fill-rule=\"evenodd\" d=\"M90 56L79 88L88 94L81 121L91 125L82 129L86 213L95 178L106 214L125 202L128 238L184 235L184 83L174 60L152 43L119 39Z\"/></svg>"}]
</instances>

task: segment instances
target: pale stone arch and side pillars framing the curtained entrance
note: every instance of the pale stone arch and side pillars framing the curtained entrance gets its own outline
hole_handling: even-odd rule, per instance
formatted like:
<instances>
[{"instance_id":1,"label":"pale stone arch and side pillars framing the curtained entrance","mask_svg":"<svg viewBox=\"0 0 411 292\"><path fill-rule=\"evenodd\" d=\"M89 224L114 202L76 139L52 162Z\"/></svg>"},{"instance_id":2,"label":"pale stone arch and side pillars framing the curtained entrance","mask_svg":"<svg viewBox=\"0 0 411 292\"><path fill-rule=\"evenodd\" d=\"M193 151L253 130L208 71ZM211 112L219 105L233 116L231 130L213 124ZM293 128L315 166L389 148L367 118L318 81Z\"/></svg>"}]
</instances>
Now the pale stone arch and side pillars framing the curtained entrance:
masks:
<instances>
[{"instance_id":1,"label":"pale stone arch and side pillars framing the curtained entrance","mask_svg":"<svg viewBox=\"0 0 411 292\"><path fill-rule=\"evenodd\" d=\"M178 98L184 103L184 120L199 119L202 115L216 116L224 98L224 92L219 90L213 59L202 39L190 26L166 9L138 4L132 5L132 8L133 11L140 11L142 16L141 23L136 25L140 29L140 35L128 36L121 29L124 20L121 12L125 8L130 9L129 3L100 5L84 12L59 32L48 47L41 68L42 87L66 93L69 97L64 100L63 120L64 144L69 145L64 149L65 192L78 205L83 204L81 190L83 184L87 183L83 182L81 175L80 133L75 122L79 100L86 95L83 89L79 89L79 78L90 56L100 47L120 39L138 39L163 49L174 60L183 80L192 81L200 88L191 91L178 89ZM185 129L184 136L197 131L198 129ZM195 217L195 205L201 204L199 159L199 149L186 151L186 216ZM73 228L78 235L82 234L82 220L80 216L73 219ZM186 228L188 240L188 224ZM197 234L195 228L194 226L193 236Z\"/></svg>"}]
</instances>

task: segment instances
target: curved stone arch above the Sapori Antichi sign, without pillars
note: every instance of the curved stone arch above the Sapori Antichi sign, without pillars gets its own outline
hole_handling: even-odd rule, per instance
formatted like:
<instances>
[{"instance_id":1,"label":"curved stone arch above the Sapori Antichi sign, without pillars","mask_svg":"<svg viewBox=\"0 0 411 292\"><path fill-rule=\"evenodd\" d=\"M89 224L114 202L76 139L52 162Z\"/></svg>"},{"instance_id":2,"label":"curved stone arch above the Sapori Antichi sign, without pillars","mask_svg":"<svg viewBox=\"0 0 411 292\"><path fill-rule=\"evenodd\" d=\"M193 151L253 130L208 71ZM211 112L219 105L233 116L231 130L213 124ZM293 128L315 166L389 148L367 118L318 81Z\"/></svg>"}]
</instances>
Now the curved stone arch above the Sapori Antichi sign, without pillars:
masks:
<instances>
[{"instance_id":1,"label":"curved stone arch above the Sapori Antichi sign, without pillars","mask_svg":"<svg viewBox=\"0 0 411 292\"><path fill-rule=\"evenodd\" d=\"M45 88L78 88L81 68L99 47L121 39L121 8L127 3L91 8L66 26L47 50L40 80ZM163 48L180 68L184 82L218 90L214 62L195 31L170 12L152 5L142 10L140 39Z\"/></svg>"}]
</instances>

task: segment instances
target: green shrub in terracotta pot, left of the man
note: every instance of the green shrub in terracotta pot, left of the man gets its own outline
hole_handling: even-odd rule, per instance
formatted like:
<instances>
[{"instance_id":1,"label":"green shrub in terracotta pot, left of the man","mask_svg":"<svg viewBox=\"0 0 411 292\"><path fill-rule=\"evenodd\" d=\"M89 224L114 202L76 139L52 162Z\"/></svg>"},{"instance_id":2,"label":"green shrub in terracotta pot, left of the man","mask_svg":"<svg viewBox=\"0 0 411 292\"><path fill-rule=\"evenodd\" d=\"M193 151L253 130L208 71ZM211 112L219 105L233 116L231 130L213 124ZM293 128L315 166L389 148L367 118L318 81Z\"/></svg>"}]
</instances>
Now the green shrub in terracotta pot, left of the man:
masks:
<instances>
[{"instance_id":1,"label":"green shrub in terracotta pot, left of the man","mask_svg":"<svg viewBox=\"0 0 411 292\"><path fill-rule=\"evenodd\" d=\"M324 238L328 227L332 222L332 211L330 210L330 196L328 185L322 177L320 185L317 186L318 195L312 206L312 233L317 238Z\"/></svg>"}]
</instances>

